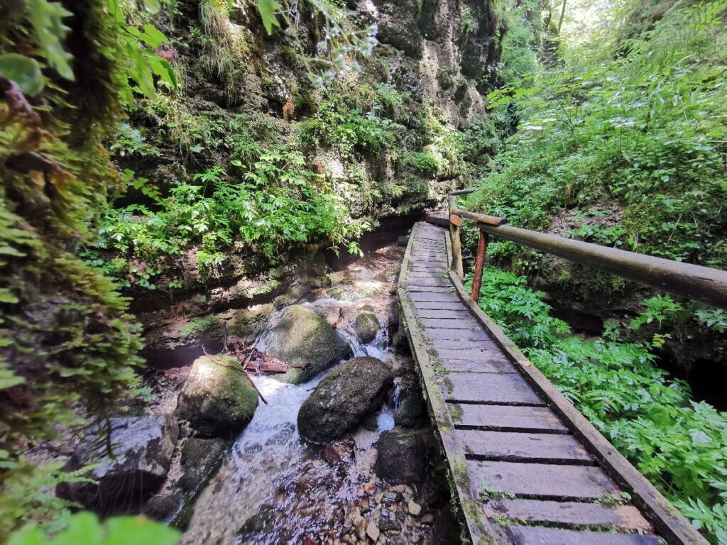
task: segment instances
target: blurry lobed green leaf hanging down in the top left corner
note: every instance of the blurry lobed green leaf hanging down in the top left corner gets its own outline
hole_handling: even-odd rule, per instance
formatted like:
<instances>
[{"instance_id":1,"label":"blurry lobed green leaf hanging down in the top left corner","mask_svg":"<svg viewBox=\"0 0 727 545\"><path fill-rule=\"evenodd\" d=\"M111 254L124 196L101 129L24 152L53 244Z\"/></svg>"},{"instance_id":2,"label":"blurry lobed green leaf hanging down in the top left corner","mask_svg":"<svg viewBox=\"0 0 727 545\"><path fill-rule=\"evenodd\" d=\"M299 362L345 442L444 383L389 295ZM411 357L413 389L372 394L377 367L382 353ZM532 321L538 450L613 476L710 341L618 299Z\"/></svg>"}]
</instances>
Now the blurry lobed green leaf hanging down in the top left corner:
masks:
<instances>
[{"instance_id":1,"label":"blurry lobed green leaf hanging down in the top left corner","mask_svg":"<svg viewBox=\"0 0 727 545\"><path fill-rule=\"evenodd\" d=\"M63 17L73 15L59 2L28 0L28 19L36 31L36 38L48 64L62 78L73 81L71 60L73 55L63 49L63 39L71 29L63 24Z\"/></svg>"}]
</instances>

